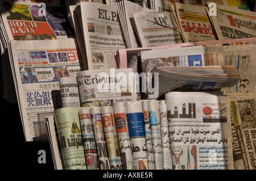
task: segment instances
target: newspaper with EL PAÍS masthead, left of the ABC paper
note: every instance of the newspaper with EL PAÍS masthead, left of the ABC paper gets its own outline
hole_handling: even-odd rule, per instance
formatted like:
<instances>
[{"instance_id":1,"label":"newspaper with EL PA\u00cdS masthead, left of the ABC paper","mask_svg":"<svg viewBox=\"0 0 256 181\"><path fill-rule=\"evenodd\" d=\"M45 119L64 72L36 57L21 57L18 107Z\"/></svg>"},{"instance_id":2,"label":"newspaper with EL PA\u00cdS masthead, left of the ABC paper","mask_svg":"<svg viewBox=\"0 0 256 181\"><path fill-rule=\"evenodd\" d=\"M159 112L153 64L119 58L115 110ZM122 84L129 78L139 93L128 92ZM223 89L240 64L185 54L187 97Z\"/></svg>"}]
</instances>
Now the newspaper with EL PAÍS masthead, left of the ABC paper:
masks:
<instances>
[{"instance_id":1,"label":"newspaper with EL PA\u00cdS masthead, left of the ABC paper","mask_svg":"<svg viewBox=\"0 0 256 181\"><path fill-rule=\"evenodd\" d=\"M115 68L112 51L126 48L117 8L93 2L80 5L89 70Z\"/></svg>"}]
</instances>

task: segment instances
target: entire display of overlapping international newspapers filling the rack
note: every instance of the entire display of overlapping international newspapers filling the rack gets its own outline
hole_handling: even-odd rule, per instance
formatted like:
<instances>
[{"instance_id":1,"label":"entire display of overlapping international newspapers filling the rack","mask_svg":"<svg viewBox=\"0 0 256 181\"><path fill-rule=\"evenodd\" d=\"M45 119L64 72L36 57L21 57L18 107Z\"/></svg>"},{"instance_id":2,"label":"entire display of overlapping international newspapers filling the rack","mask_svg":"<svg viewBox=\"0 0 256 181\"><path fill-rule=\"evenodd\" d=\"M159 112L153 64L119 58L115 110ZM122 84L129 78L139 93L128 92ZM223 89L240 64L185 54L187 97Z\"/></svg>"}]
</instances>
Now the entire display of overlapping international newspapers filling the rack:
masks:
<instances>
[{"instance_id":1,"label":"entire display of overlapping international newspapers filling the rack","mask_svg":"<svg viewBox=\"0 0 256 181\"><path fill-rule=\"evenodd\" d=\"M256 170L255 1L0 2L3 96L55 170Z\"/></svg>"}]
</instances>

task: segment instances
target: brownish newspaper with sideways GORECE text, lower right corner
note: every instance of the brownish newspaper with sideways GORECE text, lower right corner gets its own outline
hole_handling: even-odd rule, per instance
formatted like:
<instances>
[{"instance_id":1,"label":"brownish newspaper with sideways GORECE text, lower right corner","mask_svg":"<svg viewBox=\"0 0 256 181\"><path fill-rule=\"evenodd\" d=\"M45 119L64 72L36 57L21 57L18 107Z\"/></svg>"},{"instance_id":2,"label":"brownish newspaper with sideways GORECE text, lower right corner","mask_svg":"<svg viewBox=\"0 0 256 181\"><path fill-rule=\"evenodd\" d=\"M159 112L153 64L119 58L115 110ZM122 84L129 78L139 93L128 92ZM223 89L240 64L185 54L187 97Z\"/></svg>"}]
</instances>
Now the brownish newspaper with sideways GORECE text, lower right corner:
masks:
<instances>
[{"instance_id":1,"label":"brownish newspaper with sideways GORECE text, lower right corner","mask_svg":"<svg viewBox=\"0 0 256 181\"><path fill-rule=\"evenodd\" d=\"M255 170L255 95L230 96L234 169Z\"/></svg>"}]
</instances>

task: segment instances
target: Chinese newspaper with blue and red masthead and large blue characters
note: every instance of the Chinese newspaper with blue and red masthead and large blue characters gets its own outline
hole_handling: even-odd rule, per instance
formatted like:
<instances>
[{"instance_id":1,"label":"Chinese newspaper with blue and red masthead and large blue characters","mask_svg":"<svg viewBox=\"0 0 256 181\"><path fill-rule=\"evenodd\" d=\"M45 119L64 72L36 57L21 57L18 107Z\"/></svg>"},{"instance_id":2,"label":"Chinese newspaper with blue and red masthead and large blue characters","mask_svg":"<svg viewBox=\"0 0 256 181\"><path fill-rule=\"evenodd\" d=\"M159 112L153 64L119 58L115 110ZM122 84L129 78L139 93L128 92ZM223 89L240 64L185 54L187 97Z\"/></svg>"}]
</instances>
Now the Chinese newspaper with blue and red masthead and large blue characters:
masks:
<instances>
[{"instance_id":1,"label":"Chinese newspaper with blue and red masthead and large blue characters","mask_svg":"<svg viewBox=\"0 0 256 181\"><path fill-rule=\"evenodd\" d=\"M84 69L75 39L16 41L9 44L16 95L26 141L33 141L38 113L61 107L60 77Z\"/></svg>"}]
</instances>

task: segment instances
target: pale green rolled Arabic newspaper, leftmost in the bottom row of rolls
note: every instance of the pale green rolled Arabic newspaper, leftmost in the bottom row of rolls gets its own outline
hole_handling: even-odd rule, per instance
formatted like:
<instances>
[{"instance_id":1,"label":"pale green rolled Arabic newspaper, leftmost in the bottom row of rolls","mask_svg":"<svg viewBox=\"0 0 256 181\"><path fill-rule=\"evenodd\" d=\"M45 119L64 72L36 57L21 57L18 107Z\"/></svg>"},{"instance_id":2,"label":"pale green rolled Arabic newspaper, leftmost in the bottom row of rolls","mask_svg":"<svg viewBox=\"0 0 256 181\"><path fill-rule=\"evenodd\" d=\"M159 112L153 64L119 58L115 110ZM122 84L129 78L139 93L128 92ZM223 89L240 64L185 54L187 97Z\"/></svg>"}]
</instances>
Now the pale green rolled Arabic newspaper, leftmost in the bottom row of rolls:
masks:
<instances>
[{"instance_id":1,"label":"pale green rolled Arabic newspaper, leftmost in the bottom row of rolls","mask_svg":"<svg viewBox=\"0 0 256 181\"><path fill-rule=\"evenodd\" d=\"M65 170L86 170L79 119L80 109L80 107L65 107L54 111Z\"/></svg>"}]
</instances>

